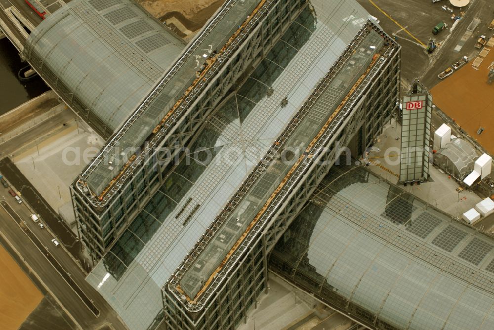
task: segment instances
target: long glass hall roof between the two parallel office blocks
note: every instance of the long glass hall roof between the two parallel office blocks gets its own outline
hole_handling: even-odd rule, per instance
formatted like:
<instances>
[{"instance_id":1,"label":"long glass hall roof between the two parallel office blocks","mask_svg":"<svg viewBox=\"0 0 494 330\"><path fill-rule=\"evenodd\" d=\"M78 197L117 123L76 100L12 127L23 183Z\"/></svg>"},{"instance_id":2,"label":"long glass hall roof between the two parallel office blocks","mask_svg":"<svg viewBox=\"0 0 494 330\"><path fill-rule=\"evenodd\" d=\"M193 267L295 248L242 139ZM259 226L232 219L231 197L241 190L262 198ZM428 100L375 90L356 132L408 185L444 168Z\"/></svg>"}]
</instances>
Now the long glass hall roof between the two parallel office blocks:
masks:
<instances>
[{"instance_id":1,"label":"long glass hall roof between the two parallel office blocks","mask_svg":"<svg viewBox=\"0 0 494 330\"><path fill-rule=\"evenodd\" d=\"M330 6L325 0L312 1L315 13L306 7L246 82L206 119L191 143L192 153L173 168L158 193L88 275L87 281L130 327L143 329L159 313L160 289L366 23L368 14L355 1L337 2ZM365 49L357 50L362 58L342 70L346 75L335 80L338 84L326 102L339 104L338 98L348 93L355 76L371 60L369 45L375 43L378 49L379 42L382 39L371 32ZM273 93L268 96L270 87ZM282 106L284 98L286 106ZM331 109L315 107L290 145L308 143ZM252 209L284 176L284 164L279 165L263 177L264 184L241 207L242 222L230 221L218 234L224 252L245 230Z\"/></svg>"}]
</instances>

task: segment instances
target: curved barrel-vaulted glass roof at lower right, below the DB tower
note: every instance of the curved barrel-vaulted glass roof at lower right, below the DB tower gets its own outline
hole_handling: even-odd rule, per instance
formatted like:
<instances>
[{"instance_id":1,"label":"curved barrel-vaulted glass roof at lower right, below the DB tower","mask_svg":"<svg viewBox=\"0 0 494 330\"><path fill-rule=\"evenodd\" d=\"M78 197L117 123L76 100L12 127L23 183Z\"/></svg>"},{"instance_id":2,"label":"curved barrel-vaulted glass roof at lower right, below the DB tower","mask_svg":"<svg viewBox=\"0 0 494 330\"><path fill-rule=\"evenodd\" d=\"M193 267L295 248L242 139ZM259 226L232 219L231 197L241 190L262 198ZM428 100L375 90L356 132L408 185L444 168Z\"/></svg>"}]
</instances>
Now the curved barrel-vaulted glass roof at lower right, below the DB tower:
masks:
<instances>
[{"instance_id":1,"label":"curved barrel-vaulted glass roof at lower right, below the DB tower","mask_svg":"<svg viewBox=\"0 0 494 330\"><path fill-rule=\"evenodd\" d=\"M363 167L333 166L270 268L379 329L488 330L493 248L492 236Z\"/></svg>"}]
</instances>

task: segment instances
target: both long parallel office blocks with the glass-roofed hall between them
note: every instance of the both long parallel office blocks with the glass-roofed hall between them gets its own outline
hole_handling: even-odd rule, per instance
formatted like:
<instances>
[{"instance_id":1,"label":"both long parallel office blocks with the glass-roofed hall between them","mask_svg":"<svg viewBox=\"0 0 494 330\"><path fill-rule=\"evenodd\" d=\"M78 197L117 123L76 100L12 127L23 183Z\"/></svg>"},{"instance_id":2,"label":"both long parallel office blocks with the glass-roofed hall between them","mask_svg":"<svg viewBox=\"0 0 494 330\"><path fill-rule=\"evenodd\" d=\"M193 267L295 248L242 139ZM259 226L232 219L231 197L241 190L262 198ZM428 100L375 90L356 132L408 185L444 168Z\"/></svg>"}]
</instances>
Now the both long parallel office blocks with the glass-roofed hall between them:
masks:
<instances>
[{"instance_id":1,"label":"both long parallel office blocks with the glass-roofed hall between them","mask_svg":"<svg viewBox=\"0 0 494 330\"><path fill-rule=\"evenodd\" d=\"M390 120L399 53L354 0L226 1L72 186L87 281L130 329L237 326L339 154Z\"/></svg>"}]
</instances>

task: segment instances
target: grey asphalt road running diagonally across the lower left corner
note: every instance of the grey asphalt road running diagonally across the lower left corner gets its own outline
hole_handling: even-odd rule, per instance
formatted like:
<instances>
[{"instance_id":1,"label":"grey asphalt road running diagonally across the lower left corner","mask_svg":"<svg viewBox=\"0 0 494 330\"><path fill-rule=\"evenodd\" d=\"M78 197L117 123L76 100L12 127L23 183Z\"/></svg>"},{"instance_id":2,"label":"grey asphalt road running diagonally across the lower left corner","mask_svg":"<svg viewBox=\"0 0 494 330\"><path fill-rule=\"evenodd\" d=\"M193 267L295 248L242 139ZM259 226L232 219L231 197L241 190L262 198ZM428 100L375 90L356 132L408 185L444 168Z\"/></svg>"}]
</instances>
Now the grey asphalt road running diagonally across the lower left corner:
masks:
<instances>
[{"instance_id":1,"label":"grey asphalt road running diagonally across the lower left corner","mask_svg":"<svg viewBox=\"0 0 494 330\"><path fill-rule=\"evenodd\" d=\"M3 187L0 188L0 199L5 200L6 202L4 203L7 203L21 219L21 225L19 225L14 219L17 218L15 214L12 217L0 207L1 232L7 237L14 248L19 251L24 261L40 276L41 281L46 285L47 289L60 300L67 312L81 325L82 329L97 329L108 324L111 324L114 329L125 329L123 323L116 316L115 311L108 305L106 300L85 282L84 274L66 250L61 247L55 247L51 242L53 236L49 229L41 229L37 223L34 223L30 219L29 215L31 211L25 204L17 204L8 194L7 189ZM8 207L6 208L9 210ZM41 215L41 222L46 223L45 220ZM25 230L21 229L21 226L26 227L28 229L27 232L29 233L30 231L35 236L35 240L40 241L44 247L43 252L33 244ZM97 310L99 310L99 317L96 317L91 312L86 304L84 304L82 297L69 286L67 281L64 280L64 277L53 267L47 259L46 253L56 259L63 269L61 272L65 273L64 276L70 277L72 282L82 290L83 295L87 296L89 302L93 303Z\"/></svg>"}]
</instances>

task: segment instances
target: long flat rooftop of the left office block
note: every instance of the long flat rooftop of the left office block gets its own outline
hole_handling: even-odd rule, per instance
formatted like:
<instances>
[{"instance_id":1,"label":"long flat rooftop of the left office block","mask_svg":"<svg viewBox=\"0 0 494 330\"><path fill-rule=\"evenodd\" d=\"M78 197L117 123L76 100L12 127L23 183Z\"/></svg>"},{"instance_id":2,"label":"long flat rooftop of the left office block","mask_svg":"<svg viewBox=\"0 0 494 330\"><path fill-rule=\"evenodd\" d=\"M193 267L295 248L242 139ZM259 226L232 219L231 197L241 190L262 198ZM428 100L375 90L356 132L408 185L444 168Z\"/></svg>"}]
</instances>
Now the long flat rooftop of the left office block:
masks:
<instances>
[{"instance_id":1,"label":"long flat rooftop of the left office block","mask_svg":"<svg viewBox=\"0 0 494 330\"><path fill-rule=\"evenodd\" d=\"M152 135L153 129L165 115L170 116L170 109L196 80L198 71L200 72L206 61L204 55L207 57L212 51L222 49L258 3L259 0L244 0L230 6L221 20L202 31L207 32L206 36L197 39L200 42L193 49L189 48L186 55L182 54L172 69L166 72L165 78L153 87L153 91L156 92L150 94L149 101L144 100L134 108L140 112L138 118L130 126L124 126L124 133L114 137L112 142L105 146L105 152L98 155L97 161L101 158L106 159L90 164L91 172L87 175L86 171L82 173L83 180L94 195L102 194L110 181L120 173L126 160L144 145L144 141ZM142 98L143 95L141 101ZM144 152L144 149L141 152ZM115 165L109 166L108 159L113 159Z\"/></svg>"}]
</instances>

